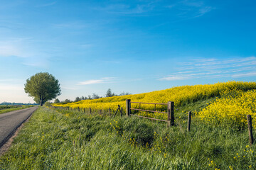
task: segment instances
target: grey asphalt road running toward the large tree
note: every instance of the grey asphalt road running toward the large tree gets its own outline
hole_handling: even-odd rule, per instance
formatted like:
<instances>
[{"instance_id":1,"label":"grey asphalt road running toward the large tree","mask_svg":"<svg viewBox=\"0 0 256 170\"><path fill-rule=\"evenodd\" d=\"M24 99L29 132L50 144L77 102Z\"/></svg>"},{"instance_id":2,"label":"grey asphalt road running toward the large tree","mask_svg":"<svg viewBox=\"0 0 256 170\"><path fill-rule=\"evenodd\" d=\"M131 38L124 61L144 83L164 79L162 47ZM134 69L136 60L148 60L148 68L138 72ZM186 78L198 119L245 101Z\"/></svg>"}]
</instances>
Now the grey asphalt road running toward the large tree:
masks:
<instances>
[{"instance_id":1,"label":"grey asphalt road running toward the large tree","mask_svg":"<svg viewBox=\"0 0 256 170\"><path fill-rule=\"evenodd\" d=\"M0 114L0 147L9 140L15 130L25 122L38 107L25 108Z\"/></svg>"}]
</instances>

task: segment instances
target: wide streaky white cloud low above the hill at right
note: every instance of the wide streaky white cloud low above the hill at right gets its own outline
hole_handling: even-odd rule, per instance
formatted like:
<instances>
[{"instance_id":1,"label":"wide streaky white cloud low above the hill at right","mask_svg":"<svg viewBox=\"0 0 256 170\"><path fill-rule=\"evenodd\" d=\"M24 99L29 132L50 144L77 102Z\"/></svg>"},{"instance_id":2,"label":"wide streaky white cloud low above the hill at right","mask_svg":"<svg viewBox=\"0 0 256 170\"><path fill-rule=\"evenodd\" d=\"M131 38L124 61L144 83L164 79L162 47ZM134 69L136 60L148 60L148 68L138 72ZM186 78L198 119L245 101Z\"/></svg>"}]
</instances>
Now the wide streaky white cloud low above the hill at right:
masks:
<instances>
[{"instance_id":1,"label":"wide streaky white cloud low above the hill at right","mask_svg":"<svg viewBox=\"0 0 256 170\"><path fill-rule=\"evenodd\" d=\"M197 59L178 64L174 74L161 77L159 80L213 79L220 77L254 77L256 76L256 57L234 59Z\"/></svg>"}]
</instances>

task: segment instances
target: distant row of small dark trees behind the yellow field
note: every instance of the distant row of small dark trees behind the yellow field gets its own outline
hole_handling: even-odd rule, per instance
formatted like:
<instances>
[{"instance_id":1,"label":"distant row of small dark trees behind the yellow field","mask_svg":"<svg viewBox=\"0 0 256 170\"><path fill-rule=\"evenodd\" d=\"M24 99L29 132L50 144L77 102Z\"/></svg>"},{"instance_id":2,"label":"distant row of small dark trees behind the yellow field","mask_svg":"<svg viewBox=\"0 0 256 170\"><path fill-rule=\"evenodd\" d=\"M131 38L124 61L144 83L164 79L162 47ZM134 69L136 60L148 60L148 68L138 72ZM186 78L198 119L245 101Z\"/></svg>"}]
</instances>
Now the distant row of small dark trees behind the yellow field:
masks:
<instances>
[{"instance_id":1,"label":"distant row of small dark trees behind the yellow field","mask_svg":"<svg viewBox=\"0 0 256 170\"><path fill-rule=\"evenodd\" d=\"M122 92L121 94L114 94L112 93L111 89L107 89L107 92L105 94L105 97L112 97L112 96L124 96L124 95L129 95L129 92ZM82 97L76 97L74 102L78 101L83 101L83 100L92 100L92 99L97 99L97 98L102 98L102 96L99 96L98 94L92 94L88 96L82 96ZM69 99L65 99L64 101L60 101L58 98L55 98L54 103L70 103L73 101L70 101Z\"/></svg>"}]
</instances>

